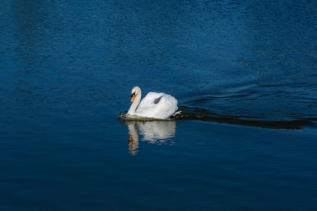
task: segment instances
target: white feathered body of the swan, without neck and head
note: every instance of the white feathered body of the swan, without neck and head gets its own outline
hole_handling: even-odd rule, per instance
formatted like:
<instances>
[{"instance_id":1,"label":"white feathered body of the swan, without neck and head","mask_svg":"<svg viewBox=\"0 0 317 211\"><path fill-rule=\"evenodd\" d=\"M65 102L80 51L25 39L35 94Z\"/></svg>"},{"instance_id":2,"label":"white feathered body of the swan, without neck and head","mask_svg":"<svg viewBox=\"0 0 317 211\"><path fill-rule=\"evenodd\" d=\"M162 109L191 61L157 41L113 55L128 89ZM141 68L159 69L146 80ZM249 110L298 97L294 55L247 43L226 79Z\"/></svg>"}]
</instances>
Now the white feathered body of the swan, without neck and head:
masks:
<instances>
[{"instance_id":1,"label":"white feathered body of the swan, without neck and head","mask_svg":"<svg viewBox=\"0 0 317 211\"><path fill-rule=\"evenodd\" d=\"M149 92L141 100L135 115L169 119L177 109L177 100L173 96L165 93Z\"/></svg>"}]
</instances>

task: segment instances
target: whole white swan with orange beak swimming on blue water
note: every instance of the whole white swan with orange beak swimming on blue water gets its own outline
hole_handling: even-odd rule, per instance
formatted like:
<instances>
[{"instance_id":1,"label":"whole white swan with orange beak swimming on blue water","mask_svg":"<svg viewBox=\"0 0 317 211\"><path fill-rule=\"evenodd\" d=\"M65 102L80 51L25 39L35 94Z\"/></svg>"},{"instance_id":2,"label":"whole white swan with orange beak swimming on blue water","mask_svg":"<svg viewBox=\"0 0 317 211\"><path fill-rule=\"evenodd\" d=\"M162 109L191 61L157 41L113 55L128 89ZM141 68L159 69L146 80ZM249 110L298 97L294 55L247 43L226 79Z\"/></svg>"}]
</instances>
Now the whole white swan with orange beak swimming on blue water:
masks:
<instances>
[{"instance_id":1,"label":"whole white swan with orange beak swimming on blue water","mask_svg":"<svg viewBox=\"0 0 317 211\"><path fill-rule=\"evenodd\" d=\"M156 119L170 119L180 113L177 111L177 100L168 94L149 92L141 101L141 89L134 87L131 91L130 109L127 114Z\"/></svg>"}]
</instances>

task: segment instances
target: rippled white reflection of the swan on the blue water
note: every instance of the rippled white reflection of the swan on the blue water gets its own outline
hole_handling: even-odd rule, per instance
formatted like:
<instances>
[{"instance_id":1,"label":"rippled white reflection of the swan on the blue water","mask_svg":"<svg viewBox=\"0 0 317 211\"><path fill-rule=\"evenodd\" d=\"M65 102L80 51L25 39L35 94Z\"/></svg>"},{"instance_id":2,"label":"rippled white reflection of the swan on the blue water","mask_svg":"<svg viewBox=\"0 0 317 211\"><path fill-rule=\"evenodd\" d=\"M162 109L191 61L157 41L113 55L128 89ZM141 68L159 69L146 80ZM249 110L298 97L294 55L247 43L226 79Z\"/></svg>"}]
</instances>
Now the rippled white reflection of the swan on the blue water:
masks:
<instances>
[{"instance_id":1,"label":"rippled white reflection of the swan on the blue water","mask_svg":"<svg viewBox=\"0 0 317 211\"><path fill-rule=\"evenodd\" d=\"M172 138L176 132L175 121L128 121L129 152L133 155L139 151L139 135L141 141L152 144L173 144Z\"/></svg>"}]
</instances>

